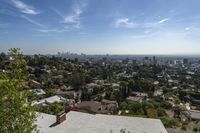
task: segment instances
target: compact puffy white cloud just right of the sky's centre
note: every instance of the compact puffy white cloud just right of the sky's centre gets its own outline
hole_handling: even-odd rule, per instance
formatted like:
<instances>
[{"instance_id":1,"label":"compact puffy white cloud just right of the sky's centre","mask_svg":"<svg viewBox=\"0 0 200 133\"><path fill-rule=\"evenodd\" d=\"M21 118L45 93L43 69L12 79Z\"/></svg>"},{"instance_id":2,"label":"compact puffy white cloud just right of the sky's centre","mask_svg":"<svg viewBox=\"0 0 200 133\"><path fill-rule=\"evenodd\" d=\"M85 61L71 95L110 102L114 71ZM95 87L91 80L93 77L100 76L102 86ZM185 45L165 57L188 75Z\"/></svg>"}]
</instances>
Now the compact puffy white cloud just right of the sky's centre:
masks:
<instances>
[{"instance_id":1,"label":"compact puffy white cloud just right of the sky's centre","mask_svg":"<svg viewBox=\"0 0 200 133\"><path fill-rule=\"evenodd\" d=\"M115 21L115 28L125 27L125 28L135 28L137 27L136 23L133 23L129 18L120 18Z\"/></svg>"}]
</instances>

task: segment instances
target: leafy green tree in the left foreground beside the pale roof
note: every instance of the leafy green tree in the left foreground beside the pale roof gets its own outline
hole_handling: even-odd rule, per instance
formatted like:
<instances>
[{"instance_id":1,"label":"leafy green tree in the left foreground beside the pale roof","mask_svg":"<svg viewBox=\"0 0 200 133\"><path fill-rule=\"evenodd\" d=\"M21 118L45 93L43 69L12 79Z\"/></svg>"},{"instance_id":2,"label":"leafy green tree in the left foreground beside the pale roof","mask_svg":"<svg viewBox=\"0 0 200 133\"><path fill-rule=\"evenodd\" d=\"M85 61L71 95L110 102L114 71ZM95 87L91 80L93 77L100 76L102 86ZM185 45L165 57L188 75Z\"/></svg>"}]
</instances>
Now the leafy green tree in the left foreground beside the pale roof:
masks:
<instances>
[{"instance_id":1,"label":"leafy green tree in the left foreground beside the pale roof","mask_svg":"<svg viewBox=\"0 0 200 133\"><path fill-rule=\"evenodd\" d=\"M26 61L20 49L10 49L8 55L12 58L6 66L9 72L0 72L0 132L31 133L36 130L36 115L22 85L27 80Z\"/></svg>"}]
</instances>

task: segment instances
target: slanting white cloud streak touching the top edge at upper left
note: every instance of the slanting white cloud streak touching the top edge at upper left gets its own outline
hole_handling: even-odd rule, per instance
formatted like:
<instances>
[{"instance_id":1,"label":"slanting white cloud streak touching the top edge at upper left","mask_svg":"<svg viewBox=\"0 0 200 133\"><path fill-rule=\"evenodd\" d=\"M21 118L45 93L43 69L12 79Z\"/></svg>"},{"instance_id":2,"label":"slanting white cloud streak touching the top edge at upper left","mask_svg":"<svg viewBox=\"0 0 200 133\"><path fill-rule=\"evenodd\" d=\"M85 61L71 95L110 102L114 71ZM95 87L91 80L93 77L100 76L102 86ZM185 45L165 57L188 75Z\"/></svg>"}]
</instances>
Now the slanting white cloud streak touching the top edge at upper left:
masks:
<instances>
[{"instance_id":1,"label":"slanting white cloud streak touching the top edge at upper left","mask_svg":"<svg viewBox=\"0 0 200 133\"><path fill-rule=\"evenodd\" d=\"M39 12L36 11L33 7L23 3L20 0L11 0L11 2L14 4L16 8L20 9L20 11L25 14L31 14L31 15L39 14Z\"/></svg>"}]
</instances>

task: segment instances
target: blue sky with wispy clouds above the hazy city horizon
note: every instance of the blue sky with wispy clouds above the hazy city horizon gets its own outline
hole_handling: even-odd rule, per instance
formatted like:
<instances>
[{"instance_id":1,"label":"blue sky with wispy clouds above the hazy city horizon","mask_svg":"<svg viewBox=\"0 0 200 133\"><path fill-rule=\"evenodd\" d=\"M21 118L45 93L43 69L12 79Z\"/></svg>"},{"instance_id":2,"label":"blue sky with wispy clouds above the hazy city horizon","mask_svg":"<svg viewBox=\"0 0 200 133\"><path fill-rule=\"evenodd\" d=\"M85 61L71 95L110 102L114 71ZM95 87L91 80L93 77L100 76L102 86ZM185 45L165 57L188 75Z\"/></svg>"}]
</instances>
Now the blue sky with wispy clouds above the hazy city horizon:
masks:
<instances>
[{"instance_id":1,"label":"blue sky with wispy clouds above the hazy city horizon","mask_svg":"<svg viewBox=\"0 0 200 133\"><path fill-rule=\"evenodd\" d=\"M0 0L0 51L199 54L199 0Z\"/></svg>"}]
</instances>

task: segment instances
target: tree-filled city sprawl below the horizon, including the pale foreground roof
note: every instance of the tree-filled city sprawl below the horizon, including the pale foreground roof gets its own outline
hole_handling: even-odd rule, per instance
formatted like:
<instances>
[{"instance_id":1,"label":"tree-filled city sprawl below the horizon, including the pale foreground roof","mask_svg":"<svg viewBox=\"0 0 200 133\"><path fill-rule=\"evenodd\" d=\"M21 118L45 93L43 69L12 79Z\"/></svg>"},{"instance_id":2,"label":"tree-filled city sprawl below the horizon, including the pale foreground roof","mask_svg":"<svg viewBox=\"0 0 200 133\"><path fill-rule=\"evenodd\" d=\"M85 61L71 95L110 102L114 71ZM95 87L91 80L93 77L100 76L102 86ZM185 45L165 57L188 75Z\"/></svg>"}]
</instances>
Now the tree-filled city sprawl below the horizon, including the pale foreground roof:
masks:
<instances>
[{"instance_id":1,"label":"tree-filled city sprawl below the horizon, including the pale foreground roof","mask_svg":"<svg viewBox=\"0 0 200 133\"><path fill-rule=\"evenodd\" d=\"M26 55L28 99L44 133L200 132L200 58ZM0 54L0 73L15 60ZM0 82L4 82L1 80Z\"/></svg>"}]
</instances>

